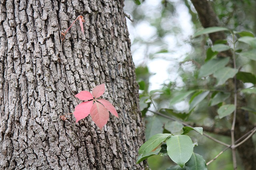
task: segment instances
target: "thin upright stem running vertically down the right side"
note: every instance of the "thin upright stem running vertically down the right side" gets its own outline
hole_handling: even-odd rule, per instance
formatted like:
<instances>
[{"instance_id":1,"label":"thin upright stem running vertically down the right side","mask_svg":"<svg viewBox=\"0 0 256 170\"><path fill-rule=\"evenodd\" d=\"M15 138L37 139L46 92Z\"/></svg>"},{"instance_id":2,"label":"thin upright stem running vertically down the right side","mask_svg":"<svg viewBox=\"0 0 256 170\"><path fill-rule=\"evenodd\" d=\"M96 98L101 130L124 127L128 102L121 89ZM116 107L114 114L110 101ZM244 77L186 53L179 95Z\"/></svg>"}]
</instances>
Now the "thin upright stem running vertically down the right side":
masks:
<instances>
[{"instance_id":1,"label":"thin upright stem running vertically down the right side","mask_svg":"<svg viewBox=\"0 0 256 170\"><path fill-rule=\"evenodd\" d=\"M236 44L235 44L235 35L232 33L232 39L233 39L233 67L236 68ZM232 160L233 160L233 168L234 170L237 169L237 163L236 163L236 147L235 147L235 124L236 124L236 107L237 107L237 87L236 87L236 75L234 76L234 115L233 115L233 121L232 121L232 127L231 127L231 149L232 149Z\"/></svg>"}]
</instances>

